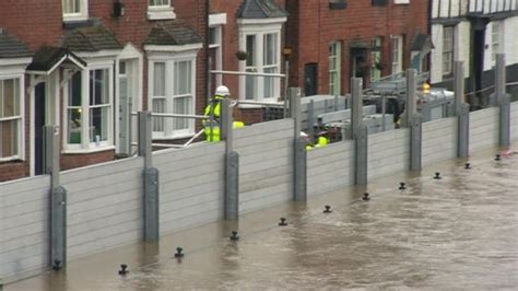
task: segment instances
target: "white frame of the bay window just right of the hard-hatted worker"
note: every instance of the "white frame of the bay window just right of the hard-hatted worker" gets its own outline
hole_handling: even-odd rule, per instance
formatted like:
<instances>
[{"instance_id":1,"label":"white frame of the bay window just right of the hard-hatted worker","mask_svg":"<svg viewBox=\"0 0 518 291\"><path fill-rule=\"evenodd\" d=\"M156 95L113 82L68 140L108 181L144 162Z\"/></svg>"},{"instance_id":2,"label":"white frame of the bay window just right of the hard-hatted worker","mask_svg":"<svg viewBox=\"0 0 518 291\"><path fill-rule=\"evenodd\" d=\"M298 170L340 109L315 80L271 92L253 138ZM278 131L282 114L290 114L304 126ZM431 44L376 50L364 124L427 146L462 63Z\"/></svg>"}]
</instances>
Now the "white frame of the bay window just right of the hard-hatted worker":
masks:
<instances>
[{"instance_id":1,"label":"white frame of the bay window just right of the hard-hatted worker","mask_svg":"<svg viewBox=\"0 0 518 291\"><path fill-rule=\"evenodd\" d=\"M279 73L281 71L281 28L282 24L286 21L286 18L278 18L278 19L267 19L267 20L238 20L237 24L239 27L239 50L246 51L246 39L249 35L256 36L256 59L254 68L257 68L257 72L262 73L264 72L264 65L263 65L263 48L264 48L264 35L268 34L275 34L276 35L276 66L267 66L270 68L274 68L275 72ZM252 69L251 67L246 66L246 60L239 61L239 71L244 72ZM252 100L248 101L256 101L256 102L266 102L266 103L276 103L281 95L281 80L280 78L273 79L273 97L266 98L264 97L264 78L263 77L256 77L256 90L255 96ZM246 77L239 77L239 98L246 100Z\"/></svg>"}]
</instances>

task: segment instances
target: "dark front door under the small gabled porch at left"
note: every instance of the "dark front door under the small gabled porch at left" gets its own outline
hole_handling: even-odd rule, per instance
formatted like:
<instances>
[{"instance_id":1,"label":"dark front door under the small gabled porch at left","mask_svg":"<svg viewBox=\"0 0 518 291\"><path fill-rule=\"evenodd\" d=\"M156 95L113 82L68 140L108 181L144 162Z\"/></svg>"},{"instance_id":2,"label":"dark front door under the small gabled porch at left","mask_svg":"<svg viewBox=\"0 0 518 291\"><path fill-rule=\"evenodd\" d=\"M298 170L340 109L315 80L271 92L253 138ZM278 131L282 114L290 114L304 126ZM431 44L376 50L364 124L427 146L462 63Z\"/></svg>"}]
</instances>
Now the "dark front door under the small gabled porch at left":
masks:
<instances>
[{"instance_id":1,"label":"dark front door under the small gabled porch at left","mask_svg":"<svg viewBox=\"0 0 518 291\"><path fill-rule=\"evenodd\" d=\"M34 89L34 174L45 174L45 96L46 83L39 83Z\"/></svg>"}]
</instances>

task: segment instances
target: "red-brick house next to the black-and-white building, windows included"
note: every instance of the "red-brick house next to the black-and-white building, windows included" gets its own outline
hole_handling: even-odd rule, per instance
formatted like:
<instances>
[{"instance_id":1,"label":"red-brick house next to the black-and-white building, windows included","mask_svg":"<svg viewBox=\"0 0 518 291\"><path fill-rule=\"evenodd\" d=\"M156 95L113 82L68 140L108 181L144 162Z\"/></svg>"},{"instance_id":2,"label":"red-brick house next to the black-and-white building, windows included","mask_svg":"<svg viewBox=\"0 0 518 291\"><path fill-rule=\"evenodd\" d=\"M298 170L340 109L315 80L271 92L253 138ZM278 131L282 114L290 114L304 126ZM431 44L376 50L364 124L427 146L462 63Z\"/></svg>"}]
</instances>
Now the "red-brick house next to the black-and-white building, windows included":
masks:
<instances>
[{"instance_id":1,"label":"red-brick house next to the black-and-white building, windows included","mask_svg":"<svg viewBox=\"0 0 518 291\"><path fill-rule=\"evenodd\" d=\"M290 85L306 95L343 95L351 77L426 71L433 44L428 1L286 0Z\"/></svg>"}]
</instances>

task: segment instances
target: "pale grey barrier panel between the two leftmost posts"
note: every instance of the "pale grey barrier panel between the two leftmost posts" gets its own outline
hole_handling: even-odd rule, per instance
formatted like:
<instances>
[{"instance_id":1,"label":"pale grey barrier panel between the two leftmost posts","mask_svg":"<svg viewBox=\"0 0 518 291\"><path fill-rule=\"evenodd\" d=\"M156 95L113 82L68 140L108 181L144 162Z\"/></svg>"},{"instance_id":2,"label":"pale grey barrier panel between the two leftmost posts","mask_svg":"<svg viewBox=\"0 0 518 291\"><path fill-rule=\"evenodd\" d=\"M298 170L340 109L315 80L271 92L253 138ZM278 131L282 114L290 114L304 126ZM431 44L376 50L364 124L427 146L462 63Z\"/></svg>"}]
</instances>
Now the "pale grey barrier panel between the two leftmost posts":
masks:
<instances>
[{"instance_id":1,"label":"pale grey barrier panel between the two leftmost posts","mask_svg":"<svg viewBox=\"0 0 518 291\"><path fill-rule=\"evenodd\" d=\"M69 259L142 238L142 168L131 158L61 173Z\"/></svg>"}]
</instances>

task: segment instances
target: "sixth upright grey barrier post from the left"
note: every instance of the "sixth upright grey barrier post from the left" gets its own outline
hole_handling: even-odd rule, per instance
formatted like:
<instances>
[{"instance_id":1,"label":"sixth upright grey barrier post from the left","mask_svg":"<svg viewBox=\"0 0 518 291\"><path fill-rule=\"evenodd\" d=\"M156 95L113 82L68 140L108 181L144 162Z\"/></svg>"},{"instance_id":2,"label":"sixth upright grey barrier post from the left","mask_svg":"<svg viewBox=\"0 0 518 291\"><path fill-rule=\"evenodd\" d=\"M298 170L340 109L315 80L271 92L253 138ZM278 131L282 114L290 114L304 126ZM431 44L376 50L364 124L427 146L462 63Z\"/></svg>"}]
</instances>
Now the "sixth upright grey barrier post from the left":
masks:
<instances>
[{"instance_id":1,"label":"sixth upright grey barrier post from the left","mask_svg":"<svg viewBox=\"0 0 518 291\"><path fill-rule=\"evenodd\" d=\"M410 128L410 171L421 170L423 124L415 110L417 80L414 69L407 70L405 126Z\"/></svg>"}]
</instances>

